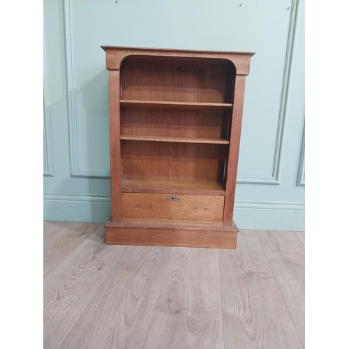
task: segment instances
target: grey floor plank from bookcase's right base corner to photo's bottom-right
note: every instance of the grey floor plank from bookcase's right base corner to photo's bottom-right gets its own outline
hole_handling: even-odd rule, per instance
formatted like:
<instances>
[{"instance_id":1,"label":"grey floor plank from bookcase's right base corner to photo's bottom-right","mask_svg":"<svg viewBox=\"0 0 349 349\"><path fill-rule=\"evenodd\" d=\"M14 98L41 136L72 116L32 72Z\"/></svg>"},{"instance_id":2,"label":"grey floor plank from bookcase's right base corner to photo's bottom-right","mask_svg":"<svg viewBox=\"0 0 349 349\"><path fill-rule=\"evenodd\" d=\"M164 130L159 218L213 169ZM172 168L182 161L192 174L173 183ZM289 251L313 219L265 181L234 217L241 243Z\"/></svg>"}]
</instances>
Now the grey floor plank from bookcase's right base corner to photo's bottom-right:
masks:
<instances>
[{"instance_id":1,"label":"grey floor plank from bookcase's right base corner to photo's bottom-right","mask_svg":"<svg viewBox=\"0 0 349 349\"><path fill-rule=\"evenodd\" d=\"M258 237L220 250L219 266L225 349L301 349Z\"/></svg>"}]
</instances>

